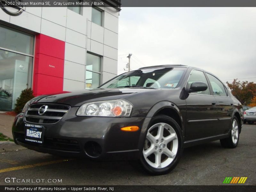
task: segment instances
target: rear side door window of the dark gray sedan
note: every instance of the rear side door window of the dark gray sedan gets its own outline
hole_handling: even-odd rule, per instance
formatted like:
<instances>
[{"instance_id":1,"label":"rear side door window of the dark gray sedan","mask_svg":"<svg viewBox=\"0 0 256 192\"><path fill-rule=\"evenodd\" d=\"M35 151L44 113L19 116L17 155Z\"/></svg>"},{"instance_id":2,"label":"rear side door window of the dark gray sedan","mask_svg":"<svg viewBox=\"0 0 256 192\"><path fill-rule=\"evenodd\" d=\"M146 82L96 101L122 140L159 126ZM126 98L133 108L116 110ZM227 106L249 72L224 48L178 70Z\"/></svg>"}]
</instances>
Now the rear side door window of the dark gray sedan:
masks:
<instances>
[{"instance_id":1,"label":"rear side door window of the dark gray sedan","mask_svg":"<svg viewBox=\"0 0 256 192\"><path fill-rule=\"evenodd\" d=\"M210 75L209 73L206 73L207 77L210 80L210 83L212 85L213 94L216 96L228 96L228 93L225 89L225 86L219 79L217 79L215 76Z\"/></svg>"}]
</instances>

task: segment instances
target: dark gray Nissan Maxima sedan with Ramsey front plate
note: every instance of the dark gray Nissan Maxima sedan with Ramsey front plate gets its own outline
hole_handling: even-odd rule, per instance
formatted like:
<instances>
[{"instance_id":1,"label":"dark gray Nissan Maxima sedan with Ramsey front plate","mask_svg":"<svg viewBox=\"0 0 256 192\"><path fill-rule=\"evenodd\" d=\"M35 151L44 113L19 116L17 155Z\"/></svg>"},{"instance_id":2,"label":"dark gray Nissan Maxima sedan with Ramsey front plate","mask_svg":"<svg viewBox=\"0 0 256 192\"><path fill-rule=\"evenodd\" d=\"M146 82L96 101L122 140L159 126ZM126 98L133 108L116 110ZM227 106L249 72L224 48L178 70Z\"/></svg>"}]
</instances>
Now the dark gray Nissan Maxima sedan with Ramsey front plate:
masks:
<instances>
[{"instance_id":1,"label":"dark gray Nissan Maxima sedan with Ramsey front plate","mask_svg":"<svg viewBox=\"0 0 256 192\"><path fill-rule=\"evenodd\" d=\"M93 82L93 78L92 78ZM16 143L91 159L139 159L152 174L171 171L184 147L220 140L235 148L241 103L214 75L183 65L140 68L96 89L42 95L16 116Z\"/></svg>"}]
</instances>

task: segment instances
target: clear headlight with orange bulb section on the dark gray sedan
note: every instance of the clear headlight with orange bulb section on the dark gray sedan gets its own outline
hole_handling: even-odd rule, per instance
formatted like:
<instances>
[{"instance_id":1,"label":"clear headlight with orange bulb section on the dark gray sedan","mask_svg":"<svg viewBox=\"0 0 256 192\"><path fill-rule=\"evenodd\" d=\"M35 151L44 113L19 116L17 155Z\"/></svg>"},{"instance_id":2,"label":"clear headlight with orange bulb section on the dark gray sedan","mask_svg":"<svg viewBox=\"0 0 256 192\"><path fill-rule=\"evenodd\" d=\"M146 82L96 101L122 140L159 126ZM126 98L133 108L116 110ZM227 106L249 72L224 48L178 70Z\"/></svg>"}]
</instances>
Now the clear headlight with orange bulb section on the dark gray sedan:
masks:
<instances>
[{"instance_id":1,"label":"clear headlight with orange bulb section on the dark gray sedan","mask_svg":"<svg viewBox=\"0 0 256 192\"><path fill-rule=\"evenodd\" d=\"M96 101L83 104L76 112L77 116L128 117L132 112L132 103L126 100Z\"/></svg>"}]
</instances>

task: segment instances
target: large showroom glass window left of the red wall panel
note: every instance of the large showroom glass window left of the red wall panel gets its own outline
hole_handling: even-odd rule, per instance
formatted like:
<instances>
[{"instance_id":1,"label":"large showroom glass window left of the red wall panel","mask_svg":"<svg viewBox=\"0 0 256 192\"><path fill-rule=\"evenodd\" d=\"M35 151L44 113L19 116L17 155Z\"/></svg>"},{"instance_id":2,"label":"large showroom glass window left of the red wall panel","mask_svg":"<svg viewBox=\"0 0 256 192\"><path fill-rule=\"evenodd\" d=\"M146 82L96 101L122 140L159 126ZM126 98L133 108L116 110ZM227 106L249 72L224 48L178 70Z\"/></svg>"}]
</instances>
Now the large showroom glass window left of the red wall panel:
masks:
<instances>
[{"instance_id":1,"label":"large showroom glass window left of the red wall panel","mask_svg":"<svg viewBox=\"0 0 256 192\"><path fill-rule=\"evenodd\" d=\"M0 25L0 111L15 108L31 86L34 36Z\"/></svg>"}]
</instances>

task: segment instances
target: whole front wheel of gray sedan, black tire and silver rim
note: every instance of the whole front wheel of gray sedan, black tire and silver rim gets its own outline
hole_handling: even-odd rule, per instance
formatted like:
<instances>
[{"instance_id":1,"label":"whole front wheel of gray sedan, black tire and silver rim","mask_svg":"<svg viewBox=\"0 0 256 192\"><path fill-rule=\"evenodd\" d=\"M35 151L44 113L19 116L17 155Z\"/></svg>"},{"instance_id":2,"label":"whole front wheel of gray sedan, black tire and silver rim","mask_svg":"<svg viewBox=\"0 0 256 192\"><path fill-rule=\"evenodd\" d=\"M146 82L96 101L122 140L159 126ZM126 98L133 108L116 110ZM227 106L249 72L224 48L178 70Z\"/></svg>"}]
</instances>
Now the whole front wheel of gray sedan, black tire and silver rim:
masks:
<instances>
[{"instance_id":1,"label":"whole front wheel of gray sedan, black tire and silver rim","mask_svg":"<svg viewBox=\"0 0 256 192\"><path fill-rule=\"evenodd\" d=\"M179 124L169 116L154 117L148 127L140 163L153 175L172 171L183 152L183 137Z\"/></svg>"}]
</instances>

